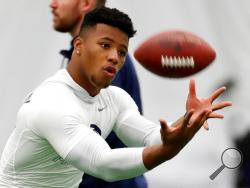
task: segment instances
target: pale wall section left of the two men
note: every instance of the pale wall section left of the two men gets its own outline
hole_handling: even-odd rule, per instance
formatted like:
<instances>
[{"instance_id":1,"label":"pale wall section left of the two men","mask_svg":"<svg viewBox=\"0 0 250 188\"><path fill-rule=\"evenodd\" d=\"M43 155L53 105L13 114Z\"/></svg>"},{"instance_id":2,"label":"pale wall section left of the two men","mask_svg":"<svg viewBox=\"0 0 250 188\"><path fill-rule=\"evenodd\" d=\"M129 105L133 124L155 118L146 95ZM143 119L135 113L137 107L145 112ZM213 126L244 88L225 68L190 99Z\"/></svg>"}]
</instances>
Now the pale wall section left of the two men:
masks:
<instances>
[{"instance_id":1,"label":"pale wall section left of the two men","mask_svg":"<svg viewBox=\"0 0 250 188\"><path fill-rule=\"evenodd\" d=\"M69 37L53 31L49 1L0 0L0 151L23 98L60 67Z\"/></svg>"}]
</instances>

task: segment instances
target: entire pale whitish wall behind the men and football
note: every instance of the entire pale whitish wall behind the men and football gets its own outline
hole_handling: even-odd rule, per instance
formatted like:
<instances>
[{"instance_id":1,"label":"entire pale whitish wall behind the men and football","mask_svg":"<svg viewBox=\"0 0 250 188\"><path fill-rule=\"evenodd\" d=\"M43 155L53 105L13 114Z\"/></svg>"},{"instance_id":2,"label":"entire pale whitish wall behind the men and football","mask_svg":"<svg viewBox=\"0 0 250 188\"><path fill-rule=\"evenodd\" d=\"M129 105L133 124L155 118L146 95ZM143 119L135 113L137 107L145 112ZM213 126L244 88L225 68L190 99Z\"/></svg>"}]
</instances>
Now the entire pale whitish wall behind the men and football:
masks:
<instances>
[{"instance_id":1,"label":"entire pale whitish wall behind the men and football","mask_svg":"<svg viewBox=\"0 0 250 188\"><path fill-rule=\"evenodd\" d=\"M67 34L53 31L48 5L49 0L0 0L0 152L22 99L59 68L58 51L69 45ZM217 59L193 76L200 96L207 96L228 78L237 80L229 96L234 107L223 111L225 119L209 120L210 131L201 130L176 158L147 173L150 187L232 187L234 170L225 169L214 181L208 177L220 165L222 151L232 146L233 132L240 126L237 117L249 111L250 1L108 0L108 5L126 11L134 20L138 32L130 42L131 54L147 37L173 28L207 40ZM161 78L135 65L145 116L157 122L160 117L174 120L182 115L189 78ZM232 117L236 124L229 123Z\"/></svg>"}]
</instances>

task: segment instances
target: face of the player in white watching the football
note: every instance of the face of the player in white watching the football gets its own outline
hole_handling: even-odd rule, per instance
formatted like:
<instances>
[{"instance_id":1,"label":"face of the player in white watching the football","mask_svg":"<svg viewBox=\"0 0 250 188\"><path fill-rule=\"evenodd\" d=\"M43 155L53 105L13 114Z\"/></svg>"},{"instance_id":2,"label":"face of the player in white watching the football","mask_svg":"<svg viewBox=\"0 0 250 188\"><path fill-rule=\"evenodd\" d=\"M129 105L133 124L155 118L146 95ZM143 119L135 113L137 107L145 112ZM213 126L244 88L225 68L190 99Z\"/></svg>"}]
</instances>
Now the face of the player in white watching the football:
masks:
<instances>
[{"instance_id":1,"label":"face of the player in white watching the football","mask_svg":"<svg viewBox=\"0 0 250 188\"><path fill-rule=\"evenodd\" d=\"M80 52L77 57L80 74L86 81L85 89L105 88L124 64L128 36L120 29L106 24L97 24L81 36L79 44L75 43L75 50Z\"/></svg>"}]
</instances>

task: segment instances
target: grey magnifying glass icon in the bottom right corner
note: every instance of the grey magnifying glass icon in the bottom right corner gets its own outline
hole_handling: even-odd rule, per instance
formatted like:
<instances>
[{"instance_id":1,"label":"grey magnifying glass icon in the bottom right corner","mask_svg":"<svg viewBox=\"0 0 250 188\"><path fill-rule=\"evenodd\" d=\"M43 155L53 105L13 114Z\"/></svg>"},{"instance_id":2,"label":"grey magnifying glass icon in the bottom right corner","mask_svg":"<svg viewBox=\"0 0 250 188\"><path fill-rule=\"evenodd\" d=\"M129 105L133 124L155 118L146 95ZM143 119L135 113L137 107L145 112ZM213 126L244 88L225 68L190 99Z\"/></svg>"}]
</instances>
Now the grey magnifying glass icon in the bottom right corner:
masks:
<instances>
[{"instance_id":1,"label":"grey magnifying glass icon in the bottom right corner","mask_svg":"<svg viewBox=\"0 0 250 188\"><path fill-rule=\"evenodd\" d=\"M209 176L211 180L214 180L224 168L236 169L240 167L243 162L242 152L237 148L227 148L221 155L221 162L222 165Z\"/></svg>"}]
</instances>

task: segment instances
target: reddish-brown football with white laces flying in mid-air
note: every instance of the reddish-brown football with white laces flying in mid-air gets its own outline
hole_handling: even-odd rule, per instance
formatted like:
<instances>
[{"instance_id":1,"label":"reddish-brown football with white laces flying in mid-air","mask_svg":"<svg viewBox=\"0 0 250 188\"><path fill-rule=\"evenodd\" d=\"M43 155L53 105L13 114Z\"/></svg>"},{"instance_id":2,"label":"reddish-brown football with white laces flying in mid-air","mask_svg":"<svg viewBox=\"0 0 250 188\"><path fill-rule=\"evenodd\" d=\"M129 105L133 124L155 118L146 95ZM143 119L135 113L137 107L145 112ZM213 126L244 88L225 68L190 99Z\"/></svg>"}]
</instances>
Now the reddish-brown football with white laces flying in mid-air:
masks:
<instances>
[{"instance_id":1,"label":"reddish-brown football with white laces flying in mid-air","mask_svg":"<svg viewBox=\"0 0 250 188\"><path fill-rule=\"evenodd\" d=\"M215 60L216 52L192 32L169 30L141 43L134 51L134 57L159 76L183 78L205 69Z\"/></svg>"}]
</instances>

